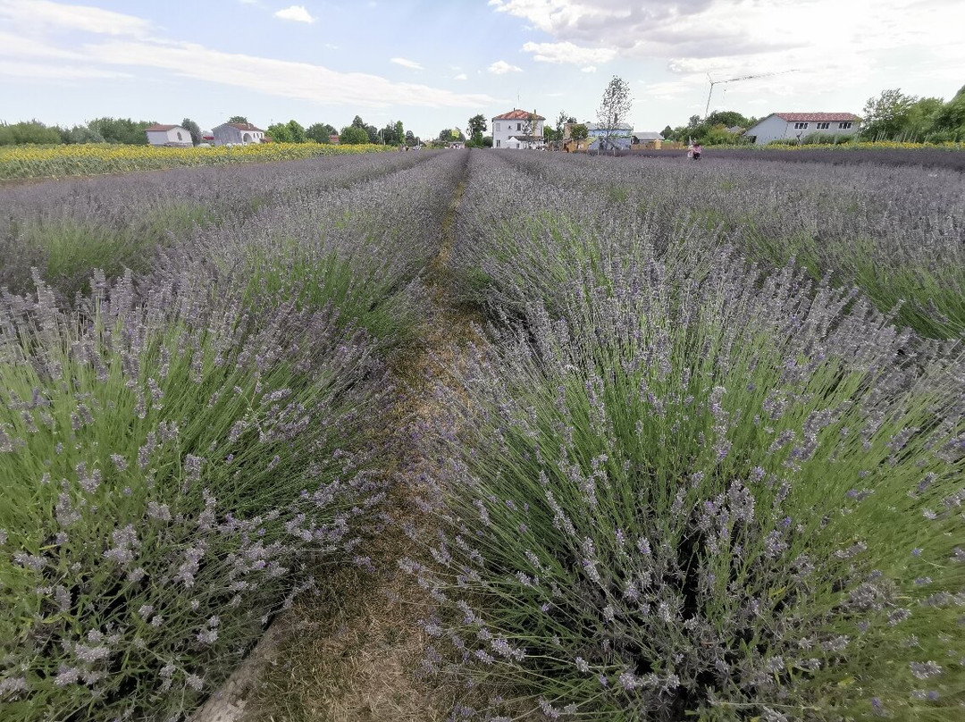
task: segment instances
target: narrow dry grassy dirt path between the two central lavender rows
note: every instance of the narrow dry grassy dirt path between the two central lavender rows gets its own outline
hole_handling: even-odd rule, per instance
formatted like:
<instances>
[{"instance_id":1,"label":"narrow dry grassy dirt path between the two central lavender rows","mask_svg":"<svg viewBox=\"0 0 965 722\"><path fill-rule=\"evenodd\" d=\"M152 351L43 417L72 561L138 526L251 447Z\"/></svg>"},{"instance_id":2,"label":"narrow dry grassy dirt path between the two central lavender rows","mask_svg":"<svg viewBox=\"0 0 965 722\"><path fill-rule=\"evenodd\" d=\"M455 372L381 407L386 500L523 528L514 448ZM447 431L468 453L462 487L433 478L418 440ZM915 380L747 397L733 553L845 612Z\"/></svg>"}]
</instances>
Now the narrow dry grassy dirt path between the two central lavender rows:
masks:
<instances>
[{"instance_id":1,"label":"narrow dry grassy dirt path between the two central lavender rows","mask_svg":"<svg viewBox=\"0 0 965 722\"><path fill-rule=\"evenodd\" d=\"M456 368L460 349L474 338L477 319L457 310L450 268L467 167L427 268L431 309L423 346L395 369L405 388L394 418L386 420L393 429L397 483L390 513L396 523L367 547L372 568L336 569L320 596L296 601L192 722L434 722L453 708L457 690L419 675L426 641L419 620L430 600L398 562L425 556L424 540L433 536L431 517L417 503L436 463L418 443L420 430L441 412L431 381Z\"/></svg>"}]
</instances>

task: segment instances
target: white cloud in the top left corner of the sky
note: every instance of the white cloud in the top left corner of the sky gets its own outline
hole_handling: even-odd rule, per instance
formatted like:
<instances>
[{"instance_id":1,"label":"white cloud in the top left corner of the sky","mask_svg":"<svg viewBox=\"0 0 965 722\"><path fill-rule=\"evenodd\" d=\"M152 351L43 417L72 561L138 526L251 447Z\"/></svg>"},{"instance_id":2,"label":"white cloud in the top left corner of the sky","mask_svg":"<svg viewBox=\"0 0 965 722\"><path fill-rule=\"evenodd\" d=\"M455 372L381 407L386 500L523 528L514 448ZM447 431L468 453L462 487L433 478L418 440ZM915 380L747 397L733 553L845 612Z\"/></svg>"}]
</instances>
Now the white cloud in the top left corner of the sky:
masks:
<instances>
[{"instance_id":1,"label":"white cloud in the top left corner of the sky","mask_svg":"<svg viewBox=\"0 0 965 722\"><path fill-rule=\"evenodd\" d=\"M0 18L7 18L19 27L80 30L98 35L141 36L150 28L147 20L134 15L47 0L0 0Z\"/></svg>"}]
</instances>

